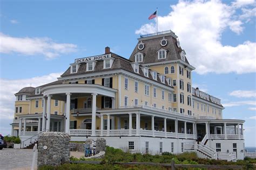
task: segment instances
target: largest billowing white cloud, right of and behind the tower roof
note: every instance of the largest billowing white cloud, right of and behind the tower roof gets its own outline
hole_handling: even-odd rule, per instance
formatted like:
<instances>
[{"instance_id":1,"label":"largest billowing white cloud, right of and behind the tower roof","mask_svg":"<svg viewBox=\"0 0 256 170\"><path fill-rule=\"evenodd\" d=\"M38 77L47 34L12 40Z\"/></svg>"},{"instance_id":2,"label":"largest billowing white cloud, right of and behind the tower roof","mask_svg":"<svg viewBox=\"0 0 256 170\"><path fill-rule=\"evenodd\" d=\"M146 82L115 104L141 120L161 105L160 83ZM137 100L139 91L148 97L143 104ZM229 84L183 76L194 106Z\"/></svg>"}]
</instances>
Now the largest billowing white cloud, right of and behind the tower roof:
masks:
<instances>
[{"instance_id":1,"label":"largest billowing white cloud, right of and behind the tower roof","mask_svg":"<svg viewBox=\"0 0 256 170\"><path fill-rule=\"evenodd\" d=\"M179 1L171 5L171 12L158 17L158 30L172 30L179 36L196 72L251 73L256 72L255 42L246 41L237 46L221 44L221 35L230 28L242 33L242 21L234 17L236 9L220 1ZM142 25L137 34L156 31L153 23Z\"/></svg>"}]
</instances>

